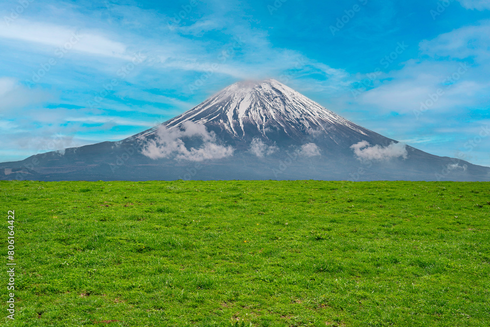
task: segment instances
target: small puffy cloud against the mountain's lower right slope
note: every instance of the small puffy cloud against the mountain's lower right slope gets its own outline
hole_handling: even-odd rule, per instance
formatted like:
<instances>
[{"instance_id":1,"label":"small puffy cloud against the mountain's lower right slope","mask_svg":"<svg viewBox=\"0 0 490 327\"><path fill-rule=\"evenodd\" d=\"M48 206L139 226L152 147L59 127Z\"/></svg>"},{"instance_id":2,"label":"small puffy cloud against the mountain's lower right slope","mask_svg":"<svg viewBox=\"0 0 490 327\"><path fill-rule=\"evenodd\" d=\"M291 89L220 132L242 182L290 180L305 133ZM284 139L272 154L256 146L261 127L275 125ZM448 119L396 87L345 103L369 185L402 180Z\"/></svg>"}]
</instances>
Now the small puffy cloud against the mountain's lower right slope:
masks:
<instances>
[{"instance_id":1,"label":"small puffy cloud against the mountain's lower right slope","mask_svg":"<svg viewBox=\"0 0 490 327\"><path fill-rule=\"evenodd\" d=\"M387 147L380 145L371 146L368 141L361 141L350 147L358 160L387 161L392 158L402 157L406 159L408 152L406 145L402 143L391 143Z\"/></svg>"}]
</instances>

